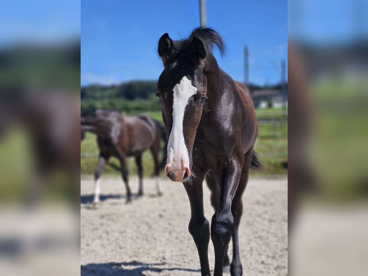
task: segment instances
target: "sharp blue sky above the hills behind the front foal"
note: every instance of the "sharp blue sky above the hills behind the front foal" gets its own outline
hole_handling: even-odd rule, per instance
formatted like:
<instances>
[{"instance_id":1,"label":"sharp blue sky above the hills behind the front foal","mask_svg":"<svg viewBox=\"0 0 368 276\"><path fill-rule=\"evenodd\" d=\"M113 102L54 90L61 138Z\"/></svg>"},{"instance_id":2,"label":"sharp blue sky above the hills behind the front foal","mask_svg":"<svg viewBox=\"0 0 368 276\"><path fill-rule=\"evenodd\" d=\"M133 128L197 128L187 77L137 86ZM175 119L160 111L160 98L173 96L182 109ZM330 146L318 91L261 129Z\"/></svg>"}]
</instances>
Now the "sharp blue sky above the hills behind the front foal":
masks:
<instances>
[{"instance_id":1,"label":"sharp blue sky above the hills behind the front foal","mask_svg":"<svg viewBox=\"0 0 368 276\"><path fill-rule=\"evenodd\" d=\"M207 0L207 26L220 33L226 57L215 57L234 79L243 81L243 47L250 51L250 82L280 82L281 59L287 60L287 1ZM81 85L158 79L157 54L163 33L186 38L199 26L198 0L82 0Z\"/></svg>"}]
</instances>

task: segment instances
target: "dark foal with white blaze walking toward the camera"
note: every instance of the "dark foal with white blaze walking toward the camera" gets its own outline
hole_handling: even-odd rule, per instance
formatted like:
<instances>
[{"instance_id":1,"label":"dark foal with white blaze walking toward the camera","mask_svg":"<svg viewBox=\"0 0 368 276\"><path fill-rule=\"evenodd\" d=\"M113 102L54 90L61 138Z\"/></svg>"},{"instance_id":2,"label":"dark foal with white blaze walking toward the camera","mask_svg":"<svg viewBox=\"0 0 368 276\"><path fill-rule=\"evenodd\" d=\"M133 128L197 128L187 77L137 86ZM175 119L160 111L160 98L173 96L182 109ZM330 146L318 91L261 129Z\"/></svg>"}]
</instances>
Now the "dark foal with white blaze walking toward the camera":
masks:
<instances>
[{"instance_id":1,"label":"dark foal with white blaze walking toward the camera","mask_svg":"<svg viewBox=\"0 0 368 276\"><path fill-rule=\"evenodd\" d=\"M194 29L188 39L173 41L165 33L159 40L164 70L157 96L169 137L165 174L172 181L184 182L191 206L189 232L197 245L202 275L211 275L210 237L215 247L214 275L229 269L231 236L230 272L242 275L239 223L249 169L259 166L253 151L258 123L250 92L218 66L213 44L224 53L220 35L202 27ZM216 210L211 231L203 209L205 178Z\"/></svg>"}]
</instances>

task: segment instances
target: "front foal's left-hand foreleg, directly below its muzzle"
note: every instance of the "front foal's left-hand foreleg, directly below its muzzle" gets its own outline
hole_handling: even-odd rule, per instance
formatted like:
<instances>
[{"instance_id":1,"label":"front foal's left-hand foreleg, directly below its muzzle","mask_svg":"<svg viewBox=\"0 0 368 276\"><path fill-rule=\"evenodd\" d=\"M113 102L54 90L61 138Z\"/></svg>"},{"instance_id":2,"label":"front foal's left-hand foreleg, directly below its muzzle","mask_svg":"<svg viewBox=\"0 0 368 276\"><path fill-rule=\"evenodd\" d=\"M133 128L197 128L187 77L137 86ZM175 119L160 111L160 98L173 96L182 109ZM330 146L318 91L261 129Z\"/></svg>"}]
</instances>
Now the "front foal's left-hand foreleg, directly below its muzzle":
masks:
<instances>
[{"instance_id":1,"label":"front foal's left-hand foreleg, directly below its muzzle","mask_svg":"<svg viewBox=\"0 0 368 276\"><path fill-rule=\"evenodd\" d=\"M203 210L203 180L204 176L198 175L198 178L194 180L192 185L184 182L184 187L189 197L191 209L188 229L197 246L202 276L211 276L208 263L210 232L209 222L205 218Z\"/></svg>"}]
</instances>

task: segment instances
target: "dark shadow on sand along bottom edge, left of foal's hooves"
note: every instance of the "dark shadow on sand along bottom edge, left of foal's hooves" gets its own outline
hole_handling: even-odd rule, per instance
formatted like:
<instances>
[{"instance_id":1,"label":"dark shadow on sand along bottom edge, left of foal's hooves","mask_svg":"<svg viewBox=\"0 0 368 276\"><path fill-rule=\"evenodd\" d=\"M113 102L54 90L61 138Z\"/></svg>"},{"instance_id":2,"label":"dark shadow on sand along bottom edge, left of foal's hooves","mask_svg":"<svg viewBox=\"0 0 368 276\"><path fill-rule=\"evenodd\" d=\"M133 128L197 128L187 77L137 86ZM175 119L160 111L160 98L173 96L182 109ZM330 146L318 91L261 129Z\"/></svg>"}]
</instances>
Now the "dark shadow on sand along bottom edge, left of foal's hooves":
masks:
<instances>
[{"instance_id":1,"label":"dark shadow on sand along bottom edge, left of foal's hooves","mask_svg":"<svg viewBox=\"0 0 368 276\"><path fill-rule=\"evenodd\" d=\"M181 270L187 272L201 273L201 269L187 269L187 268L159 268L158 266L166 265L166 263L142 263L137 261L132 262L110 262L110 263L89 263L88 265L81 265L81 276L98 276L98 275L129 275L142 276L145 271L162 272ZM124 266L133 266L133 268L124 268Z\"/></svg>"}]
</instances>

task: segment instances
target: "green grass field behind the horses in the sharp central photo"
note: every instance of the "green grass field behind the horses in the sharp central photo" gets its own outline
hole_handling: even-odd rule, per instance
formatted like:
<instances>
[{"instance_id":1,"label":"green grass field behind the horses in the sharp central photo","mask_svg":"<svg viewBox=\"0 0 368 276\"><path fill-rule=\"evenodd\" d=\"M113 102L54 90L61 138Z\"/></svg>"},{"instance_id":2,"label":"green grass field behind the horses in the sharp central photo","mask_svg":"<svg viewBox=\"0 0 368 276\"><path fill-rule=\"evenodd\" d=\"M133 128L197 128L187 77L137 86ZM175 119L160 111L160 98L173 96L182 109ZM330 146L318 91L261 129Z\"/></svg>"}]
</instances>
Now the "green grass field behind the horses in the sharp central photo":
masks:
<instances>
[{"instance_id":1,"label":"green grass field behind the horses in the sharp central photo","mask_svg":"<svg viewBox=\"0 0 368 276\"><path fill-rule=\"evenodd\" d=\"M161 112L146 112L152 118L162 121ZM259 118L259 134L255 145L255 151L259 155L262 168L252 170L253 175L282 175L287 174L287 169L282 166L287 162L287 121L264 121L265 119L280 119L283 117L281 109L257 110ZM279 122L279 123L277 123ZM93 174L98 162L98 148L96 136L87 133L81 143L81 174ZM116 158L111 158L110 163L119 165ZM130 174L137 174L134 158L128 158ZM144 175L151 176L153 173L153 160L151 153L146 151L143 155ZM120 172L112 166L106 165L103 173L120 175Z\"/></svg>"}]
</instances>

